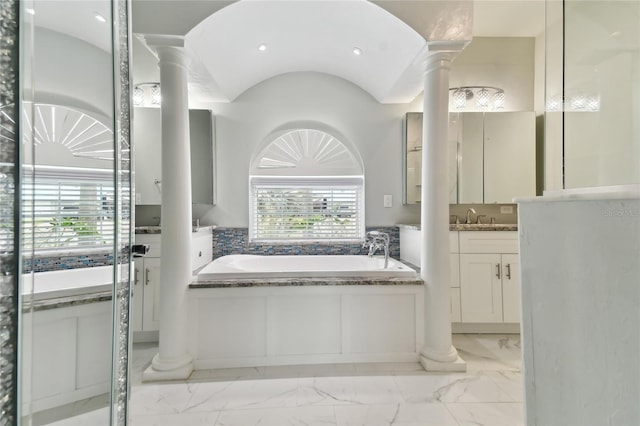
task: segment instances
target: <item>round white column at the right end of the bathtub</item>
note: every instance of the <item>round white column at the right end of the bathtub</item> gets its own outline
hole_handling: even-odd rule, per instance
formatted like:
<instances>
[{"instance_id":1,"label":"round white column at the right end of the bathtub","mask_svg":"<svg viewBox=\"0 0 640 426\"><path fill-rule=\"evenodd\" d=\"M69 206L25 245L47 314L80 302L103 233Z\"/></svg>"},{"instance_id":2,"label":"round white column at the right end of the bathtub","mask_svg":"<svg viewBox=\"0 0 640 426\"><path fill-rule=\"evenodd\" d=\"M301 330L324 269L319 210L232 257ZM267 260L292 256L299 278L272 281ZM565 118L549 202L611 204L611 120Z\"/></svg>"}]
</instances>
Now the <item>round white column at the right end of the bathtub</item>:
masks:
<instances>
[{"instance_id":1,"label":"round white column at the right end of the bathtub","mask_svg":"<svg viewBox=\"0 0 640 426\"><path fill-rule=\"evenodd\" d=\"M467 42L429 43L425 59L422 129L422 241L425 339L420 363L427 371L466 371L451 341L449 288L449 73Z\"/></svg>"}]
</instances>

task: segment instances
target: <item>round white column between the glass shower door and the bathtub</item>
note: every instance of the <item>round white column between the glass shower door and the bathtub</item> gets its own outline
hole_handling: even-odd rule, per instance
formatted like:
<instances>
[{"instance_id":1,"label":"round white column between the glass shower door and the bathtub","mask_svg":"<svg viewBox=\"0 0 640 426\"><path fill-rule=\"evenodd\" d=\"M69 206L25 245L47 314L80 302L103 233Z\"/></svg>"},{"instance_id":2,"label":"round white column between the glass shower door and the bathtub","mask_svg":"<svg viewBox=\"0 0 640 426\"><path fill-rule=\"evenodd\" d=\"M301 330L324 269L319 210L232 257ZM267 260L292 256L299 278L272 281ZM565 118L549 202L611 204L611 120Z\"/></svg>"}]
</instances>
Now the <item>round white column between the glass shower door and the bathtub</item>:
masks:
<instances>
[{"instance_id":1,"label":"round white column between the glass shower door and the bathtub","mask_svg":"<svg viewBox=\"0 0 640 426\"><path fill-rule=\"evenodd\" d=\"M145 380L185 379L193 371L187 351L187 289L191 280L191 159L184 39L146 36L158 53L162 96L162 245L160 343Z\"/></svg>"}]
</instances>

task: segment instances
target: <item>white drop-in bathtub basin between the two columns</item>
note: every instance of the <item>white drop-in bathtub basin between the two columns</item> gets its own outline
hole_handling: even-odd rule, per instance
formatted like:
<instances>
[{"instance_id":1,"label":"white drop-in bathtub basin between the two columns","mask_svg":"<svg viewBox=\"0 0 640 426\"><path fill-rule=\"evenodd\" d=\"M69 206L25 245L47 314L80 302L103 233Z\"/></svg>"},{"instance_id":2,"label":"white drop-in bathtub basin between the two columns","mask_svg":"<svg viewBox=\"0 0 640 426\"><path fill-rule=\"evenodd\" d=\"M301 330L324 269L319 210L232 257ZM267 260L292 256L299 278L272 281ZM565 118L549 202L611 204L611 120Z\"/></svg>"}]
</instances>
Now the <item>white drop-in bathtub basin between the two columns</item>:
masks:
<instances>
[{"instance_id":1,"label":"white drop-in bathtub basin between the two columns","mask_svg":"<svg viewBox=\"0 0 640 426\"><path fill-rule=\"evenodd\" d=\"M199 281L249 278L409 278L416 272L389 258L387 268L381 256L257 256L234 254L220 257L199 273Z\"/></svg>"}]
</instances>

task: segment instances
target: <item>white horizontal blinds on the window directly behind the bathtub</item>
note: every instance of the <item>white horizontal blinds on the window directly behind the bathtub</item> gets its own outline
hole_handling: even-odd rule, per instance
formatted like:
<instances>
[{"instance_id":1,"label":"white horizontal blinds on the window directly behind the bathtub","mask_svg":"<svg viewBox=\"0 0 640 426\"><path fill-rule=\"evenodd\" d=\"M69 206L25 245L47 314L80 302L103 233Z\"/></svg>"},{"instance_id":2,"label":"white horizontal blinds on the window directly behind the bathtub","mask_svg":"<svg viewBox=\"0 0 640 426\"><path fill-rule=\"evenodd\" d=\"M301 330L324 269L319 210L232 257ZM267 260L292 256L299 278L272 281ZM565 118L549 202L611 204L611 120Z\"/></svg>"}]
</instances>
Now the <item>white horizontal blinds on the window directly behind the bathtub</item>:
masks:
<instances>
[{"instance_id":1,"label":"white horizontal blinds on the window directly behind the bathtub","mask_svg":"<svg viewBox=\"0 0 640 426\"><path fill-rule=\"evenodd\" d=\"M251 179L251 239L349 240L364 236L363 180Z\"/></svg>"}]
</instances>

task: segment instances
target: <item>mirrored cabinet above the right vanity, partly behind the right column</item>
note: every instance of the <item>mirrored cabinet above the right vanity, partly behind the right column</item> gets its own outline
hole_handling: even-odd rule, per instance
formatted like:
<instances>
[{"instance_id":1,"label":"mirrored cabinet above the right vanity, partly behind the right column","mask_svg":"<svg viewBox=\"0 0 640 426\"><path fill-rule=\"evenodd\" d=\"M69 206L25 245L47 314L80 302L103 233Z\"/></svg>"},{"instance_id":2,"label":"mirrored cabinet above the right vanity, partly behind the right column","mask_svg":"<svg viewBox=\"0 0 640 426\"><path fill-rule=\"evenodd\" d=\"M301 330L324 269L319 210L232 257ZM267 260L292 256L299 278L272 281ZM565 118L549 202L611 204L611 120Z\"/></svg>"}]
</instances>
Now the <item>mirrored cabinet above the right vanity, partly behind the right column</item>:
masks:
<instances>
[{"instance_id":1,"label":"mirrored cabinet above the right vanity, partly behind the right column","mask_svg":"<svg viewBox=\"0 0 640 426\"><path fill-rule=\"evenodd\" d=\"M407 113L403 138L403 201L419 204L422 113ZM533 112L449 114L449 202L512 203L536 194Z\"/></svg>"}]
</instances>

